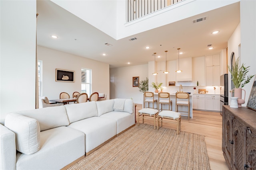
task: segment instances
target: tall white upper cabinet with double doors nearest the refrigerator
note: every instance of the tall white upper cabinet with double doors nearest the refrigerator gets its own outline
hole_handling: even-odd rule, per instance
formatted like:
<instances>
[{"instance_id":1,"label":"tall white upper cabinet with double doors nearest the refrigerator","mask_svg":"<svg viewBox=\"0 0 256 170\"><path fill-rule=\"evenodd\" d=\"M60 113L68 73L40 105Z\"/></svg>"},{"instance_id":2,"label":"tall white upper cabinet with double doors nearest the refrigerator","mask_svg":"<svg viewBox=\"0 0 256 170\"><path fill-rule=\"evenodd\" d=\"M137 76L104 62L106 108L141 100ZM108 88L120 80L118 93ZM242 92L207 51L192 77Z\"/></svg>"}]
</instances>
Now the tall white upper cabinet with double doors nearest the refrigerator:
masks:
<instances>
[{"instance_id":1,"label":"tall white upper cabinet with double doors nearest the refrigerator","mask_svg":"<svg viewBox=\"0 0 256 170\"><path fill-rule=\"evenodd\" d=\"M206 86L220 86L220 55L206 56Z\"/></svg>"}]
</instances>

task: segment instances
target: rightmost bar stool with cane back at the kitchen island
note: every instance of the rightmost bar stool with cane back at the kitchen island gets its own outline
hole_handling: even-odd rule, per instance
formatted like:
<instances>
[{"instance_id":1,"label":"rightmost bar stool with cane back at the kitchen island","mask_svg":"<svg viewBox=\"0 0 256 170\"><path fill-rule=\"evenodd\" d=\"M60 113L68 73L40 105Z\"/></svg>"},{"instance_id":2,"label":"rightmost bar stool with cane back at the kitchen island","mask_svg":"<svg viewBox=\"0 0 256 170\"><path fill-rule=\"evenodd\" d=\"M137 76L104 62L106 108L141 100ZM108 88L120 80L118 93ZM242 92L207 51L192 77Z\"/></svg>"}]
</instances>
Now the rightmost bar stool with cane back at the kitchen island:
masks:
<instances>
[{"instance_id":1,"label":"rightmost bar stool with cane back at the kitchen island","mask_svg":"<svg viewBox=\"0 0 256 170\"><path fill-rule=\"evenodd\" d=\"M178 106L188 106L188 111L178 111ZM180 113L181 115L187 115L188 120L190 117L190 102L189 102L189 94L185 92L178 92L176 93L176 112L183 112ZM185 114L188 113L188 114Z\"/></svg>"}]
</instances>

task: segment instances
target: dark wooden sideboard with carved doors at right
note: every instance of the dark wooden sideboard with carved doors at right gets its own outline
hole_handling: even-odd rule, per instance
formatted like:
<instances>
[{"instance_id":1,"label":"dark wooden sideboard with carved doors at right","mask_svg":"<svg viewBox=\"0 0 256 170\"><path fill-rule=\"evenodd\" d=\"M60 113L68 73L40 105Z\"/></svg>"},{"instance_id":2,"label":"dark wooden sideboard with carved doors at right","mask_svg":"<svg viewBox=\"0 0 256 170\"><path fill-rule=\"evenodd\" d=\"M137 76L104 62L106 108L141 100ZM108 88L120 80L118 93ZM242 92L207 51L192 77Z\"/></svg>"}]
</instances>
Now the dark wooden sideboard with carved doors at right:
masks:
<instances>
[{"instance_id":1,"label":"dark wooden sideboard with carved doors at right","mask_svg":"<svg viewBox=\"0 0 256 170\"><path fill-rule=\"evenodd\" d=\"M256 170L256 111L224 105L222 113L222 151L228 168Z\"/></svg>"}]
</instances>

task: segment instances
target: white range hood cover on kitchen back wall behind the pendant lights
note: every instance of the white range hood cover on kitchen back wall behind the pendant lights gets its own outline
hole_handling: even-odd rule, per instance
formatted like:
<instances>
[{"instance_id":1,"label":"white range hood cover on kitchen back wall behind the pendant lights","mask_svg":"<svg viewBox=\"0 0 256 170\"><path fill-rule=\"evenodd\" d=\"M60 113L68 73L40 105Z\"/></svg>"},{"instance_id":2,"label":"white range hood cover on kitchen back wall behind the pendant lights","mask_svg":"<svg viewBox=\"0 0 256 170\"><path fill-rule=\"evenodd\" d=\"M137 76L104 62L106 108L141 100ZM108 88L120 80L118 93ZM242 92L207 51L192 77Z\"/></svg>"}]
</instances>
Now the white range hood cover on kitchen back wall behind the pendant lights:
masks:
<instances>
[{"instance_id":1,"label":"white range hood cover on kitchen back wall behind the pendant lights","mask_svg":"<svg viewBox=\"0 0 256 170\"><path fill-rule=\"evenodd\" d=\"M179 68L178 59L176 60L176 68ZM180 59L180 70L182 72L176 73L176 81L192 81L192 57Z\"/></svg>"}]
</instances>

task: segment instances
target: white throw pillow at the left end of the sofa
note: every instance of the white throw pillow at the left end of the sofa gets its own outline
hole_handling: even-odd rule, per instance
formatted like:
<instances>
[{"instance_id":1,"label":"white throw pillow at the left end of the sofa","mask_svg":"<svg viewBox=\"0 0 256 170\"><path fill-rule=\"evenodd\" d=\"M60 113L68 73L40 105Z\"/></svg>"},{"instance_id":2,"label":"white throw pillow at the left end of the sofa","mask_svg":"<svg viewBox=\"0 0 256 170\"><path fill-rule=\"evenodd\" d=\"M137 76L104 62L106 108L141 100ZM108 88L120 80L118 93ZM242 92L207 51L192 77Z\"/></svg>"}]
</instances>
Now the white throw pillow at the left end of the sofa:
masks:
<instances>
[{"instance_id":1,"label":"white throw pillow at the left end of the sofa","mask_svg":"<svg viewBox=\"0 0 256 170\"><path fill-rule=\"evenodd\" d=\"M15 133L18 151L33 154L40 149L40 127L36 119L18 113L9 113L4 124Z\"/></svg>"}]
</instances>

